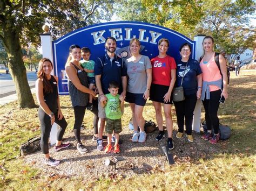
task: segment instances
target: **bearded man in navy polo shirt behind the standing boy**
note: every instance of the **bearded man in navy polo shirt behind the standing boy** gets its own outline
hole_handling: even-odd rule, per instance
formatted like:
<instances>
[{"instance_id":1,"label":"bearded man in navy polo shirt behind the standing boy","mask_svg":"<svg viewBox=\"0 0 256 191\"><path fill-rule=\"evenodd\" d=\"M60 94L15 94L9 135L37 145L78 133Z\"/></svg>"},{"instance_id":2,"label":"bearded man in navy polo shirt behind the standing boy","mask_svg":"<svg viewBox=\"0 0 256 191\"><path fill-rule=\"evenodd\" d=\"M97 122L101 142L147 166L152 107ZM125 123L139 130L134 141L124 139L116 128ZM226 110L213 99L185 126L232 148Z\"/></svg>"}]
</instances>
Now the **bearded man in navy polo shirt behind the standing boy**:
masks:
<instances>
[{"instance_id":1,"label":"bearded man in navy polo shirt behind the standing boy","mask_svg":"<svg viewBox=\"0 0 256 191\"><path fill-rule=\"evenodd\" d=\"M106 53L97 58L95 62L95 80L96 86L99 91L99 100L105 94L109 94L109 83L112 81L116 81L119 83L119 91L118 94L123 97L126 94L126 68L123 63L123 60L119 58L114 52L117 48L117 41L113 37L107 37L105 41ZM103 150L102 146L102 135L104 131L106 114L105 108L102 108L100 104L98 104L98 116L100 118L100 125L98 131L98 140L97 140L97 149L98 151Z\"/></svg>"}]
</instances>

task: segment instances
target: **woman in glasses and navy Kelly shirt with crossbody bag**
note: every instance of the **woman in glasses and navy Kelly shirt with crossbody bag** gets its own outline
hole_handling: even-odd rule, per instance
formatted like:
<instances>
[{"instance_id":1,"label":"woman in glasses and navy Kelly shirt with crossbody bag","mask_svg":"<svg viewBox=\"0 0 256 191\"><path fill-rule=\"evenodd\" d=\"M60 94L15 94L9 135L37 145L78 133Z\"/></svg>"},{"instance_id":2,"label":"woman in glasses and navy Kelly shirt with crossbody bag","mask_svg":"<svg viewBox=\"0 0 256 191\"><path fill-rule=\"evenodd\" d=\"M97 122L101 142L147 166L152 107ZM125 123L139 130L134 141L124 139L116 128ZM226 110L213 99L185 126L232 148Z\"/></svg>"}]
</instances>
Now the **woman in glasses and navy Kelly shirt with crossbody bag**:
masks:
<instances>
[{"instance_id":1,"label":"woman in glasses and navy Kelly shirt with crossbody bag","mask_svg":"<svg viewBox=\"0 0 256 191\"><path fill-rule=\"evenodd\" d=\"M188 45L187 43L181 45L179 51L181 59L176 60L176 87L183 87L184 100L175 101L173 99L179 128L176 137L179 139L183 137L185 122L185 136L187 137L189 142L193 142L193 112L194 108L196 107L197 100L201 96L202 72L198 61L190 58L190 45Z\"/></svg>"}]
</instances>

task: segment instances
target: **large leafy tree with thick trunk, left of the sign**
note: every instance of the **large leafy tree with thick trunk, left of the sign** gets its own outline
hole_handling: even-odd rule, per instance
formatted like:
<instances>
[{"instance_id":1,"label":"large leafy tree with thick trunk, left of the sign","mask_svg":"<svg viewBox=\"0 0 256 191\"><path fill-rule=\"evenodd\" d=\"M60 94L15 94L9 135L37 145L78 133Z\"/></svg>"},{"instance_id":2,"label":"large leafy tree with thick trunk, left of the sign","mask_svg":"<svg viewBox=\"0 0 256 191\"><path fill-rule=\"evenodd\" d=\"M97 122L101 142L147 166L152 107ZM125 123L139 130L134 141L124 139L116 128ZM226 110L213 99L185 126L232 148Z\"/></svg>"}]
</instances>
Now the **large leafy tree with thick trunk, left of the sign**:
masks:
<instances>
[{"instance_id":1,"label":"large leafy tree with thick trunk, left of the sign","mask_svg":"<svg viewBox=\"0 0 256 191\"><path fill-rule=\"evenodd\" d=\"M35 107L26 79L22 48L38 47L42 26L51 24L53 39L89 24L110 20L113 1L100 0L2 0L0 1L0 40L9 58L9 68L18 94L19 107Z\"/></svg>"}]
</instances>

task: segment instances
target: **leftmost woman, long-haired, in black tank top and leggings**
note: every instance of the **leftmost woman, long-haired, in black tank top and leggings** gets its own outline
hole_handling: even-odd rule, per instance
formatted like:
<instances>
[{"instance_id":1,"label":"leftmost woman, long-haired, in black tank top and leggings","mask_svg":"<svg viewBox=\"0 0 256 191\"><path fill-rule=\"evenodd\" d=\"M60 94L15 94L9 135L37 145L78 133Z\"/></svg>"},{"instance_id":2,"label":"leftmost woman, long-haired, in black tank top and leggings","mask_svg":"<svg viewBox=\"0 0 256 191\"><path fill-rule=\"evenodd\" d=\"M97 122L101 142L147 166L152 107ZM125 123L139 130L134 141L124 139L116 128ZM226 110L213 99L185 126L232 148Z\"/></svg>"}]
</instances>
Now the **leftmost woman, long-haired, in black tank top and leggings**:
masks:
<instances>
[{"instance_id":1,"label":"leftmost woman, long-haired, in black tank top and leggings","mask_svg":"<svg viewBox=\"0 0 256 191\"><path fill-rule=\"evenodd\" d=\"M36 81L36 97L39 103L38 117L41 124L41 149L45 155L44 163L50 166L57 166L59 160L52 159L49 155L48 139L50 136L52 124L56 123L60 126L57 131L57 141L55 151L62 150L70 146L69 143L62 143L62 138L68 123L62 115L59 104L58 95L58 78L52 76L52 62L43 58L39 61Z\"/></svg>"}]
</instances>

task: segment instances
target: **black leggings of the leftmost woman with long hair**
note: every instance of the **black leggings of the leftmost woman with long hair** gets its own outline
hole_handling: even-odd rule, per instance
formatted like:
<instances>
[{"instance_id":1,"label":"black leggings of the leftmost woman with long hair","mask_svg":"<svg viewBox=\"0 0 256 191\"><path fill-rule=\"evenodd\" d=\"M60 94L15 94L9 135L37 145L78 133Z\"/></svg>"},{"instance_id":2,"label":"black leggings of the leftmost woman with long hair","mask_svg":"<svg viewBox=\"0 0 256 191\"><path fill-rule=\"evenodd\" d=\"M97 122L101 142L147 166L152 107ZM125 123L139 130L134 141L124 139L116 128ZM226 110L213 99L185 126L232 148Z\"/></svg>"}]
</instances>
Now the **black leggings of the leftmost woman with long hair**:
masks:
<instances>
[{"instance_id":1,"label":"black leggings of the leftmost woman with long hair","mask_svg":"<svg viewBox=\"0 0 256 191\"><path fill-rule=\"evenodd\" d=\"M58 119L58 112L55 114L55 123L60 126L60 129L57 131L57 140L62 140L64 132L66 130L66 126L68 126L68 123L66 123L65 118L63 117L61 120ZM49 115L45 114L44 110L42 108L38 109L38 117L41 124L41 150L44 154L49 153L49 147L48 147L48 140L50 137L51 132L51 118Z\"/></svg>"}]
</instances>

